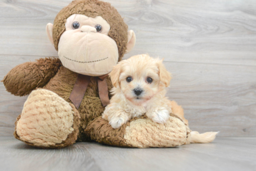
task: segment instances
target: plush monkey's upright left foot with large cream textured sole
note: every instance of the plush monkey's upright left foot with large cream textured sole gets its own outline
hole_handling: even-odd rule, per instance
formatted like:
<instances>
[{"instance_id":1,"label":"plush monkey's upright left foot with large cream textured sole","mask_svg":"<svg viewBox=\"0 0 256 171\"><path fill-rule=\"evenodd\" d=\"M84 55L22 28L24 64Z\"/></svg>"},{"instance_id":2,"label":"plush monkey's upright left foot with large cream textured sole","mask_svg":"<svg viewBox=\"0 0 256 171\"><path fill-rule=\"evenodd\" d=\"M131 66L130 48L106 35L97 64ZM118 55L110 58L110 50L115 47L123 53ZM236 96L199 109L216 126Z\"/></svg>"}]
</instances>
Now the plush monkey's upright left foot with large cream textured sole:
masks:
<instances>
[{"instance_id":1,"label":"plush monkey's upright left foot with large cream textured sole","mask_svg":"<svg viewBox=\"0 0 256 171\"><path fill-rule=\"evenodd\" d=\"M28 96L15 125L15 138L29 145L62 148L75 143L80 115L56 93L37 89Z\"/></svg>"}]
</instances>

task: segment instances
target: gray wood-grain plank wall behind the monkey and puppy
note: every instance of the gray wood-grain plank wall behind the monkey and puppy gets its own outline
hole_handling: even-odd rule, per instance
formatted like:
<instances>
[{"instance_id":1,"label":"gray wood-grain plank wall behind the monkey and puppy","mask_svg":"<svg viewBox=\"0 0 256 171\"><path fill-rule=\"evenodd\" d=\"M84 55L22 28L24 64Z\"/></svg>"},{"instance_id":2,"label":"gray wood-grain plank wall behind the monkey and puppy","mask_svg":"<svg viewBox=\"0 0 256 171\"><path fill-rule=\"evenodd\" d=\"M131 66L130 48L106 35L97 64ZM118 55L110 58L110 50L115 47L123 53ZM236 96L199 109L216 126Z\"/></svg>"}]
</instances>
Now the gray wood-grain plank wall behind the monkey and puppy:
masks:
<instances>
[{"instance_id":1,"label":"gray wood-grain plank wall behind the monkey and puppy","mask_svg":"<svg viewBox=\"0 0 256 171\"><path fill-rule=\"evenodd\" d=\"M168 97L190 128L256 137L255 0L105 0L135 31L134 50L164 58ZM26 61L57 56L45 33L71 0L0 0L0 79ZM0 83L0 136L12 136L27 97Z\"/></svg>"}]
</instances>

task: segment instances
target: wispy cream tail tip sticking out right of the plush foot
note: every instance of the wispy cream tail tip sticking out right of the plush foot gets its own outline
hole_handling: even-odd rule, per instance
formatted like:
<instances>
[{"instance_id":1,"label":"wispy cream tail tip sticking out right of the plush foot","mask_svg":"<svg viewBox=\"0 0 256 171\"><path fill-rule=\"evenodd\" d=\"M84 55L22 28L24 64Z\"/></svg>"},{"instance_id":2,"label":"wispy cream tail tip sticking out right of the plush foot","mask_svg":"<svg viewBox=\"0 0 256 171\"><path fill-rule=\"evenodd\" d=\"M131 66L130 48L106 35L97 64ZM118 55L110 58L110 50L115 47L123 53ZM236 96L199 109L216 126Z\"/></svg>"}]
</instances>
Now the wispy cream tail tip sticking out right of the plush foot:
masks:
<instances>
[{"instance_id":1,"label":"wispy cream tail tip sticking out right of the plush foot","mask_svg":"<svg viewBox=\"0 0 256 171\"><path fill-rule=\"evenodd\" d=\"M219 132L205 132L205 133L200 134L197 131L192 131L189 133L185 144L210 143L216 138L217 133L219 133Z\"/></svg>"}]
</instances>

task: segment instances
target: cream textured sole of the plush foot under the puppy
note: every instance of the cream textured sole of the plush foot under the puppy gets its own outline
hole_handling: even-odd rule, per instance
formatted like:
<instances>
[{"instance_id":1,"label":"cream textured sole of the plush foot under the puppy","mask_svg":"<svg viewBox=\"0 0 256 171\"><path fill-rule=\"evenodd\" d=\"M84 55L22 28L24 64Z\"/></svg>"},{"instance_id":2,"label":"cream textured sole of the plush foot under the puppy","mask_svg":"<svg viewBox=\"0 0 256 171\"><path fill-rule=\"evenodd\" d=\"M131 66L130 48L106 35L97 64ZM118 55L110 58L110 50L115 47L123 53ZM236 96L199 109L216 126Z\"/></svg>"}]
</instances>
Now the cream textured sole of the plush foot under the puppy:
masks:
<instances>
[{"instance_id":1,"label":"cream textured sole of the plush foot under the puppy","mask_svg":"<svg viewBox=\"0 0 256 171\"><path fill-rule=\"evenodd\" d=\"M184 144L186 137L184 123L175 117L170 117L164 126L152 119L137 119L126 127L124 135L126 144L139 148L175 147Z\"/></svg>"}]
</instances>

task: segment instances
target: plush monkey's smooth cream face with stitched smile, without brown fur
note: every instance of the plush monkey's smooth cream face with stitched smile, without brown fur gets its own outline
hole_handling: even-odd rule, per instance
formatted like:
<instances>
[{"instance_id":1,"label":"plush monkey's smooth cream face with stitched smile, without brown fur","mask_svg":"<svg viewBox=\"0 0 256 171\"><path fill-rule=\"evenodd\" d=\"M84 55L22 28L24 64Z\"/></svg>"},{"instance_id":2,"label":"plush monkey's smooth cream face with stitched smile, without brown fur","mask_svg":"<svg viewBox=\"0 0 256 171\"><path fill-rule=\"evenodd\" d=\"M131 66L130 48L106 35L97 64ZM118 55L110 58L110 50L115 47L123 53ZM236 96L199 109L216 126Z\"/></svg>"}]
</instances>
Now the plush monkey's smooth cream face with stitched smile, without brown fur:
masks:
<instances>
[{"instance_id":1,"label":"plush monkey's smooth cream face with stitched smile, without brown fur","mask_svg":"<svg viewBox=\"0 0 256 171\"><path fill-rule=\"evenodd\" d=\"M118 61L115 40L108 36L110 26L101 16L73 14L67 18L66 31L58 45L63 66L90 76L111 72Z\"/></svg>"}]
</instances>

